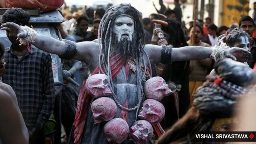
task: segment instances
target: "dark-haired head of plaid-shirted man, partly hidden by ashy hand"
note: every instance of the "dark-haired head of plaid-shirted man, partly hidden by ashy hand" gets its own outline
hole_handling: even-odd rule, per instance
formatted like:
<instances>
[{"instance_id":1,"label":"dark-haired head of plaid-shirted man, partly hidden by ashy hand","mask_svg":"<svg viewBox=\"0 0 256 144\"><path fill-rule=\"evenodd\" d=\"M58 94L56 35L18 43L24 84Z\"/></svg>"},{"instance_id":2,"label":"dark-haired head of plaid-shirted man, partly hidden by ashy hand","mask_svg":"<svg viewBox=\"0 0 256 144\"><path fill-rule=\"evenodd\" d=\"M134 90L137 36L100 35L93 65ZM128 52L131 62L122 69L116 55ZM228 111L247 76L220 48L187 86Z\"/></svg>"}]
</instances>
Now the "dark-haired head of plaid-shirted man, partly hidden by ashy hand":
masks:
<instances>
[{"instance_id":1,"label":"dark-haired head of plaid-shirted man, partly hidden by ashy hand","mask_svg":"<svg viewBox=\"0 0 256 144\"><path fill-rule=\"evenodd\" d=\"M29 24L30 15L21 8L9 8L4 12L1 19L1 24L6 22L14 22L21 26L30 26ZM18 46L20 44L19 39L17 40L17 34L13 31L6 30L6 36L10 42Z\"/></svg>"}]
</instances>

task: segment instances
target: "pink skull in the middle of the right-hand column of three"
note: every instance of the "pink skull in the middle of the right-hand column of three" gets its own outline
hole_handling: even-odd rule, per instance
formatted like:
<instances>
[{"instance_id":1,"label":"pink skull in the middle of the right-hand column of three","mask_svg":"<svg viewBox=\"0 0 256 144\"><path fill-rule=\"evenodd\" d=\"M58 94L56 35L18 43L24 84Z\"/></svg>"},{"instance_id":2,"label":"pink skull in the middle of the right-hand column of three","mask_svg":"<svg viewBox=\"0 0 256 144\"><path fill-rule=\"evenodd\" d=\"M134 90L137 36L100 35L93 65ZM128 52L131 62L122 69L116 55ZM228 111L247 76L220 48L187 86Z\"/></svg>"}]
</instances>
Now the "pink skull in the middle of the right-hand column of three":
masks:
<instances>
[{"instance_id":1,"label":"pink skull in the middle of the right-hand column of three","mask_svg":"<svg viewBox=\"0 0 256 144\"><path fill-rule=\"evenodd\" d=\"M138 117L142 120L147 120L152 124L161 122L164 118L164 114L165 109L160 102L153 99L147 99L143 102L143 106Z\"/></svg>"}]
</instances>

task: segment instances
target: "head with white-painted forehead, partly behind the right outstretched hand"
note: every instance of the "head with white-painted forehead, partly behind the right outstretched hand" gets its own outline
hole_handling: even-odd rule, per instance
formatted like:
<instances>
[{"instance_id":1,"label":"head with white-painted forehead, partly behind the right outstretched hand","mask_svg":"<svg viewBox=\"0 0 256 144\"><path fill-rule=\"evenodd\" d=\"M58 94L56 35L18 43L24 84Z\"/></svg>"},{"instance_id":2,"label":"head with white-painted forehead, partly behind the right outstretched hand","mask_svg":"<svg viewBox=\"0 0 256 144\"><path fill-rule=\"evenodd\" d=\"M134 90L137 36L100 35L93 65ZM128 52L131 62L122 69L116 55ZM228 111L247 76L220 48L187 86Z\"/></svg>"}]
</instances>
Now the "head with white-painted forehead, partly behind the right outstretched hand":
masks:
<instances>
[{"instance_id":1,"label":"head with white-painted forehead, partly behind the right outstretched hand","mask_svg":"<svg viewBox=\"0 0 256 144\"><path fill-rule=\"evenodd\" d=\"M249 35L239 28L234 28L228 34L219 36L217 45L220 45L221 42L226 43L229 47L239 47L250 51ZM246 62L248 60L248 56L242 53L235 53L234 56L239 62Z\"/></svg>"}]
</instances>

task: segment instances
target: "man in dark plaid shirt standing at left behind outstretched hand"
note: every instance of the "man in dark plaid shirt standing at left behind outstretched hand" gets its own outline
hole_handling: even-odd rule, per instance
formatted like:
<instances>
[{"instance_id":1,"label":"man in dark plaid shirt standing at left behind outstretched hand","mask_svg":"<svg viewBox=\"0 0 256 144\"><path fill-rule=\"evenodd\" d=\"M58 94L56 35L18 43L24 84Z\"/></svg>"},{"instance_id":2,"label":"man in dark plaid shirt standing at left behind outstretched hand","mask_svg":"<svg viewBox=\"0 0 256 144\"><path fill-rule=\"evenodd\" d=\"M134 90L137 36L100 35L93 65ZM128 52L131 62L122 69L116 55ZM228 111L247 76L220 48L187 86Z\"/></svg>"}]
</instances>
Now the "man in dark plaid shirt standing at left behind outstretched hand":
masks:
<instances>
[{"instance_id":1,"label":"man in dark plaid shirt standing at left behind outstretched hand","mask_svg":"<svg viewBox=\"0 0 256 144\"><path fill-rule=\"evenodd\" d=\"M29 26L30 16L20 8L10 8L1 23ZM6 30L12 45L6 49L3 82L12 86L28 132L30 144L44 143L43 125L54 107L54 81L50 54L31 44L20 45L16 34Z\"/></svg>"}]
</instances>

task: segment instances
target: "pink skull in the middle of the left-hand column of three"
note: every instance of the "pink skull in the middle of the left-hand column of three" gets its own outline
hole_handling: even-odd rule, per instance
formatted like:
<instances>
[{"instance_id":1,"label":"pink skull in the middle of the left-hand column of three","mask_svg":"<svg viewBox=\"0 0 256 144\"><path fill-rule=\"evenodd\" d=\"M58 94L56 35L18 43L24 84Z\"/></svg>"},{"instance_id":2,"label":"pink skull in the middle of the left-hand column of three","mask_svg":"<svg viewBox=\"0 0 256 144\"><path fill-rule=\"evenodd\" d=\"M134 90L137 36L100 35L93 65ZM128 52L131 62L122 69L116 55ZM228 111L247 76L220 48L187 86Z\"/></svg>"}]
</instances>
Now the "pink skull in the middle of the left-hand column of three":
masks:
<instances>
[{"instance_id":1,"label":"pink skull in the middle of the left-hand column of three","mask_svg":"<svg viewBox=\"0 0 256 144\"><path fill-rule=\"evenodd\" d=\"M116 116L117 106L114 100L108 97L98 98L91 105L94 124L106 122Z\"/></svg>"}]
</instances>

